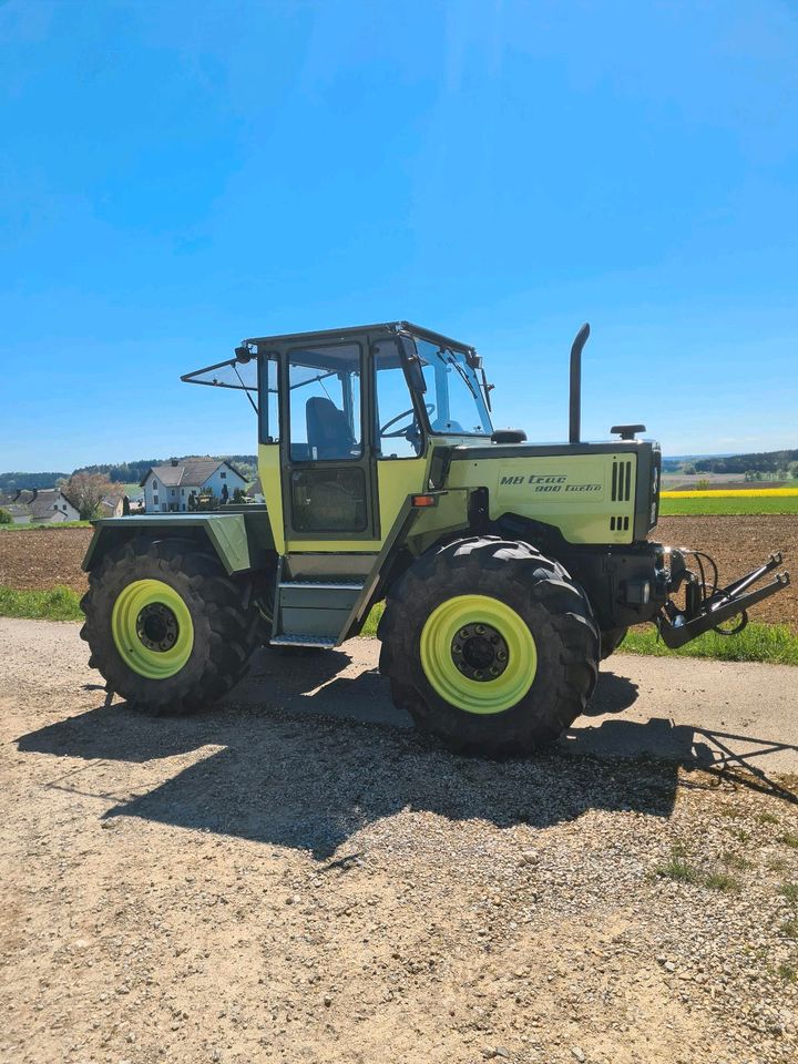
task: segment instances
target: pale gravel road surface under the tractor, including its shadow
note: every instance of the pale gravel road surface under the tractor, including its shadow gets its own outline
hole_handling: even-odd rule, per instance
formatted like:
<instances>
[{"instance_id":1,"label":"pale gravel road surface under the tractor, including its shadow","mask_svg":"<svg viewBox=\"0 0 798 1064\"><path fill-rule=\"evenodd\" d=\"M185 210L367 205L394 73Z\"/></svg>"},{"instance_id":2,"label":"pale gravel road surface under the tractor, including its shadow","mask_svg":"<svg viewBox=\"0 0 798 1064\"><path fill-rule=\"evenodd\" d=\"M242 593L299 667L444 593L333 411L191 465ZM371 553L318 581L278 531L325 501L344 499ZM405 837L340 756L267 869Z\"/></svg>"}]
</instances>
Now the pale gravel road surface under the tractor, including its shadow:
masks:
<instances>
[{"instance_id":1,"label":"pale gravel road surface under the tractor, including its shadow","mask_svg":"<svg viewBox=\"0 0 798 1064\"><path fill-rule=\"evenodd\" d=\"M798 671L620 655L495 764L417 736L371 641L186 719L85 661L0 620L0 1058L796 1060Z\"/></svg>"}]
</instances>

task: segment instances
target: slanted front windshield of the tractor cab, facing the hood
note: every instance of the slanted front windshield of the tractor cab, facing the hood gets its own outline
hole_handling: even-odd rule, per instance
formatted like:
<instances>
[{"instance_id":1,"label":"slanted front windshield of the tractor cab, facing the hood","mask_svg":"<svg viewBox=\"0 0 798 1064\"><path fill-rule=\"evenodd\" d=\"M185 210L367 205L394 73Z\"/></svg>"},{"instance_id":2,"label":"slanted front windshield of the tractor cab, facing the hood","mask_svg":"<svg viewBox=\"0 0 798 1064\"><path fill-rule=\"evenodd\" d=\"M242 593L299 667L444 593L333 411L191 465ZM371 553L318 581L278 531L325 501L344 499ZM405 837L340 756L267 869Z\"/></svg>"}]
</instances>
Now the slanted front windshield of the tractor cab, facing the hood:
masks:
<instances>
[{"instance_id":1,"label":"slanted front windshield of the tractor cab, facing the hood","mask_svg":"<svg viewBox=\"0 0 798 1064\"><path fill-rule=\"evenodd\" d=\"M452 436L490 436L493 432L477 375L462 351L416 340L427 391L430 429ZM431 408L431 409L430 409Z\"/></svg>"}]
</instances>

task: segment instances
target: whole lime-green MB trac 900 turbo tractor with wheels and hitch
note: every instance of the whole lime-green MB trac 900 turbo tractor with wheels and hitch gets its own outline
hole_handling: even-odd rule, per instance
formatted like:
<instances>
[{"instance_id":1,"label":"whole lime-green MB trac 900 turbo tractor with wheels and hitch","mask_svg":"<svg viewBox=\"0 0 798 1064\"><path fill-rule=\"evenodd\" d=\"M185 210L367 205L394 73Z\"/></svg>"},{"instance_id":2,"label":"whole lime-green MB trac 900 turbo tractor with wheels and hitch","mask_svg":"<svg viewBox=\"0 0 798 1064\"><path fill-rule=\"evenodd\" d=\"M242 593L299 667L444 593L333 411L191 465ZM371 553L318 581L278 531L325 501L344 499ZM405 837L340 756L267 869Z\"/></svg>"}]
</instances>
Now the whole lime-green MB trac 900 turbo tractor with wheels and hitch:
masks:
<instances>
[{"instance_id":1,"label":"whole lime-green MB trac 900 turbo tractor with wheels and hitch","mask_svg":"<svg viewBox=\"0 0 798 1064\"><path fill-rule=\"evenodd\" d=\"M249 339L185 375L246 395L265 503L96 522L81 634L108 689L191 712L259 645L337 646L385 601L397 706L452 749L519 755L584 710L631 625L669 646L739 631L788 583L751 590L780 555L722 587L712 560L648 540L658 444L640 424L580 439L589 332L563 444L494 430L474 348L406 321Z\"/></svg>"}]
</instances>

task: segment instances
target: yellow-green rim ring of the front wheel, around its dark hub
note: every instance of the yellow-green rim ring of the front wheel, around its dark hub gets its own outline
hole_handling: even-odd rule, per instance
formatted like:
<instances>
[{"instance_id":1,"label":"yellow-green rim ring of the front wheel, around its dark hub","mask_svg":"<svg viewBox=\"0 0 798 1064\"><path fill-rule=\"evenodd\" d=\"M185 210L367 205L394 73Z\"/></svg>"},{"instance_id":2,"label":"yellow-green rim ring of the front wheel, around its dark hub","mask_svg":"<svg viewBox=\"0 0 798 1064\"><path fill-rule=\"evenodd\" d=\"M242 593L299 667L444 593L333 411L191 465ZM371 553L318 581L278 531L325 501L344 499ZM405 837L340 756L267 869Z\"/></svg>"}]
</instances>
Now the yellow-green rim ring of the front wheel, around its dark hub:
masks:
<instances>
[{"instance_id":1,"label":"yellow-green rim ring of the front wheel, around its dark hub","mask_svg":"<svg viewBox=\"0 0 798 1064\"><path fill-rule=\"evenodd\" d=\"M498 636L494 642L507 654L499 675L473 679L458 667L459 633L474 626ZM523 618L488 595L457 595L441 603L421 630L420 653L436 692L466 713L503 713L523 698L538 672L535 641Z\"/></svg>"}]
</instances>

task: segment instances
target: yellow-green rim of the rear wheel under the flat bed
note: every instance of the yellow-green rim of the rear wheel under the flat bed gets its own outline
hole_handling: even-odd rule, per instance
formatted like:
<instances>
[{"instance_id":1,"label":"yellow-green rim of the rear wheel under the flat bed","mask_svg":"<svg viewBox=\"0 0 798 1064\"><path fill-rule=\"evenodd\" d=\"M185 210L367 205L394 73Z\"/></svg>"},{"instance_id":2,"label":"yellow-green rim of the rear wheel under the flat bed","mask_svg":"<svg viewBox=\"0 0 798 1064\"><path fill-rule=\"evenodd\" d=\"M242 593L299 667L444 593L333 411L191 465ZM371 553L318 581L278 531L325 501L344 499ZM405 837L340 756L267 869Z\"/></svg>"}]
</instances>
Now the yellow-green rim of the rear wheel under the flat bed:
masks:
<instances>
[{"instance_id":1,"label":"yellow-green rim of the rear wheel under the flat bed","mask_svg":"<svg viewBox=\"0 0 798 1064\"><path fill-rule=\"evenodd\" d=\"M174 676L194 646L188 607L162 580L136 580L120 592L111 634L125 665L147 679Z\"/></svg>"}]
</instances>

